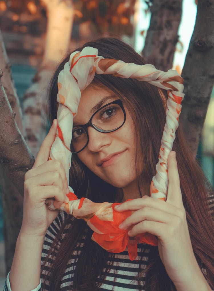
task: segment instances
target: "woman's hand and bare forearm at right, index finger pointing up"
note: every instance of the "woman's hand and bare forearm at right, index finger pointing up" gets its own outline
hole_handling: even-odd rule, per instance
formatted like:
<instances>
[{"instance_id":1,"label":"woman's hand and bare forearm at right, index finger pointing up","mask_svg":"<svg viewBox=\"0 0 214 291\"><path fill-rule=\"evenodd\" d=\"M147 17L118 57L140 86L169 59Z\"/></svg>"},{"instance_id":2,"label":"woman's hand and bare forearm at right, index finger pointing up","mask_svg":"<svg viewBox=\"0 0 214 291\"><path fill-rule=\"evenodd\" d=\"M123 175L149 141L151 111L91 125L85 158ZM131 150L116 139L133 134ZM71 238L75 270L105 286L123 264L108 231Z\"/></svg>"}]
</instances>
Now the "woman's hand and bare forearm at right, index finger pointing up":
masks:
<instances>
[{"instance_id":1,"label":"woman's hand and bare forearm at right, index finger pointing up","mask_svg":"<svg viewBox=\"0 0 214 291\"><path fill-rule=\"evenodd\" d=\"M170 152L168 158L168 181L166 201L144 196L126 201L114 209L135 211L120 225L121 229L129 229L130 237L146 232L158 237L158 251L167 274L175 286L181 286L182 282L192 281L197 274L201 280L204 276L192 249L175 152Z\"/></svg>"}]
</instances>

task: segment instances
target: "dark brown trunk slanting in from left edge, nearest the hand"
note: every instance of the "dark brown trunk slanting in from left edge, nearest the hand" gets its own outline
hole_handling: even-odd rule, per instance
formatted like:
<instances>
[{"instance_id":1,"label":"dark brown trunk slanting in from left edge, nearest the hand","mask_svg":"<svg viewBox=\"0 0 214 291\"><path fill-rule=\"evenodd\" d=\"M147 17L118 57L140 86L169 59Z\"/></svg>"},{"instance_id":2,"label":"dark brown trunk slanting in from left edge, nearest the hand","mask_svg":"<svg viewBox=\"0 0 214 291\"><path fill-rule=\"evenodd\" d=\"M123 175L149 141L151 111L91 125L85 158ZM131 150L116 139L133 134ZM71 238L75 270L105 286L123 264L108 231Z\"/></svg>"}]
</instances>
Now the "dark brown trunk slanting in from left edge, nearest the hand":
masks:
<instances>
[{"instance_id":1,"label":"dark brown trunk slanting in from left edge, nearest the hand","mask_svg":"<svg viewBox=\"0 0 214 291\"><path fill-rule=\"evenodd\" d=\"M0 78L2 71L0 73ZM30 152L17 124L16 113L10 107L0 79L0 162L8 177L23 196L24 175L32 168L34 157ZM9 205L8 205L9 207Z\"/></svg>"}]
</instances>

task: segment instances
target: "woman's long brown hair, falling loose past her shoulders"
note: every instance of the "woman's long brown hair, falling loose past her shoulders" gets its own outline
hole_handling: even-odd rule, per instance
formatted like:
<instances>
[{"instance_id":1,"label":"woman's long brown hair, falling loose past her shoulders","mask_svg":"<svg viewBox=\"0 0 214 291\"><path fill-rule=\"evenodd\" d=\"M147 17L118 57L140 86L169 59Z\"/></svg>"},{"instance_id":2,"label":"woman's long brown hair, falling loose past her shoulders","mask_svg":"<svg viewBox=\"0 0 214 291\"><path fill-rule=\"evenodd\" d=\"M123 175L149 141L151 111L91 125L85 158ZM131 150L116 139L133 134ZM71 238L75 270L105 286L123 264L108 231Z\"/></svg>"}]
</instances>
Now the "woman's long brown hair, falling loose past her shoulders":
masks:
<instances>
[{"instance_id":1,"label":"woman's long brown hair, falling loose past her shoulders","mask_svg":"<svg viewBox=\"0 0 214 291\"><path fill-rule=\"evenodd\" d=\"M99 55L104 58L113 58L126 63L139 65L147 63L132 47L116 38L100 38L87 42L75 51L82 51L86 46L97 48ZM48 102L50 123L56 118L57 113L56 95L58 92L58 74L63 70L64 64L68 62L69 56L70 53L61 61L49 85ZM149 189L151 179L156 172L155 165L158 162L160 143L166 121L166 92L147 82L139 82L135 79L123 79L111 75L95 74L93 84L106 86L112 90L123 100L128 108L136 133L135 164L139 191L142 182L144 184L146 183ZM208 211L207 203L207 196L211 195L212 188L200 166L192 157L180 127L176 131L173 150L176 151L183 204L186 210L193 251L199 266L206 268L206 274L204 276L211 287L214 288L213 221ZM93 174L78 159L77 155L72 156L70 185L72 185L78 198L88 197L94 202L115 202L116 199L118 201L122 198L122 196L119 196L121 193L119 189L116 189ZM70 226L71 224L72 226ZM68 216L65 219L64 227L59 231L55 243L46 259L47 261L51 257L54 248L57 247L58 241L61 240L63 229L68 228L66 237L61 240L61 246L56 253L56 258L48 269L50 272L50 290L59 290L60 281L68 260L72 258L77 242L86 227L87 225L82 219L74 219L72 216ZM95 283L97 277L100 276L100 278L103 278L106 276L106 273L102 275L102 270L107 262L108 253L91 240L91 234L91 230L89 229L83 251L77 261L73 285L70 287L70 290L95 291L101 285ZM114 257L114 254L112 254L112 257ZM146 274L146 286L144 288L147 291L176 290L160 260L158 247L151 248L149 264L143 271L139 267L138 278L142 276L142 273Z\"/></svg>"}]
</instances>

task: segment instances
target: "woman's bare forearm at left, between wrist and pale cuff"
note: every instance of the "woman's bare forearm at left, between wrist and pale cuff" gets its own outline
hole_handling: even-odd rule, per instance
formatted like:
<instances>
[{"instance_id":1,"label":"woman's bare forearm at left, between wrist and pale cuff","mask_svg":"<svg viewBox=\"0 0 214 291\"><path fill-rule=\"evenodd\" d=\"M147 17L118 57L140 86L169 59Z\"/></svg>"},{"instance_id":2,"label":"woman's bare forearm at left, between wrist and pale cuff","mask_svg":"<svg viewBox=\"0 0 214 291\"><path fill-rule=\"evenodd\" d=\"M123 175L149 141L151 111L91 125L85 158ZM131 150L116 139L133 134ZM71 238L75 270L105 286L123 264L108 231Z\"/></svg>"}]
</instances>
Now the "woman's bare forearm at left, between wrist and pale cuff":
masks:
<instances>
[{"instance_id":1,"label":"woman's bare forearm at left, between wrist and pale cuff","mask_svg":"<svg viewBox=\"0 0 214 291\"><path fill-rule=\"evenodd\" d=\"M40 265L44 237L32 237L20 232L10 270L13 291L29 291L40 283Z\"/></svg>"}]
</instances>

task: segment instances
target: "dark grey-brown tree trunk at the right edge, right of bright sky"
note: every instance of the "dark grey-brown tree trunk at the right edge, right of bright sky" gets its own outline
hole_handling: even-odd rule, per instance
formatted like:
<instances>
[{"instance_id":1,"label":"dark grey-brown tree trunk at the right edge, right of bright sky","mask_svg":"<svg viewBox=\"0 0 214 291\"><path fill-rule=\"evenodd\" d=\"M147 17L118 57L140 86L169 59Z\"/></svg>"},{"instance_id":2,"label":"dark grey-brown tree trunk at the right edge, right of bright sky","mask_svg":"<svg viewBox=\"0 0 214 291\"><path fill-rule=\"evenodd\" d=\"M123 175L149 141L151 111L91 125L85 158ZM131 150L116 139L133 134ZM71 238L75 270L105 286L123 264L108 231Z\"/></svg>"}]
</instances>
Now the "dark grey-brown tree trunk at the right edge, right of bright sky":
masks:
<instances>
[{"instance_id":1,"label":"dark grey-brown tree trunk at the right edge, right of bright sky","mask_svg":"<svg viewBox=\"0 0 214 291\"><path fill-rule=\"evenodd\" d=\"M196 157L214 84L214 2L198 0L197 16L182 77L185 97L180 124Z\"/></svg>"}]
</instances>

